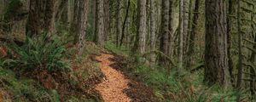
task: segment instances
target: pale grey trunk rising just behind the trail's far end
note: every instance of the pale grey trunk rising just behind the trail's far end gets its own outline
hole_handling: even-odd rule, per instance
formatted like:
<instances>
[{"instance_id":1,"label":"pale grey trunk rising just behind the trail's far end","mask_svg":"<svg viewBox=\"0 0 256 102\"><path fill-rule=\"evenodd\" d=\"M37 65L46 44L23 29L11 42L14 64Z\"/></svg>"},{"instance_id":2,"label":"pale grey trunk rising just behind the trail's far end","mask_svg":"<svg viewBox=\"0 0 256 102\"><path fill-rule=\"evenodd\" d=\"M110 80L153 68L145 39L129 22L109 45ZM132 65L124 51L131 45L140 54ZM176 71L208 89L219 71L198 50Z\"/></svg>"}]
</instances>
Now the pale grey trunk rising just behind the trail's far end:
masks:
<instances>
[{"instance_id":1,"label":"pale grey trunk rising just behind the trail's far end","mask_svg":"<svg viewBox=\"0 0 256 102\"><path fill-rule=\"evenodd\" d=\"M102 45L104 42L104 1L96 0L96 26L95 26L95 34L96 39L95 42L99 45Z\"/></svg>"}]
</instances>

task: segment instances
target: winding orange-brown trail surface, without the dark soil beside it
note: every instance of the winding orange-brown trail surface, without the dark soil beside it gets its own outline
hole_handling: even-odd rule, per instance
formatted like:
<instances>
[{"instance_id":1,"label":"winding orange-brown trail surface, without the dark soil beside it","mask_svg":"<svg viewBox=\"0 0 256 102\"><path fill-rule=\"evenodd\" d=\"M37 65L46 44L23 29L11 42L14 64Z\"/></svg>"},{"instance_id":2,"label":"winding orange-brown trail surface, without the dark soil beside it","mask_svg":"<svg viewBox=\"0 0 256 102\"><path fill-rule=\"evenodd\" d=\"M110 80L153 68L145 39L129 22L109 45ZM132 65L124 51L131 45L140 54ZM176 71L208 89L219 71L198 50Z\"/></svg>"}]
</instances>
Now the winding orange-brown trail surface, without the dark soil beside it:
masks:
<instances>
[{"instance_id":1,"label":"winding orange-brown trail surface, without the dark soil beside it","mask_svg":"<svg viewBox=\"0 0 256 102\"><path fill-rule=\"evenodd\" d=\"M96 90L100 92L104 102L131 102L131 98L124 93L131 81L110 66L115 63L110 60L113 57L111 54L101 54L96 57L100 61L102 73L106 76L101 83L96 85Z\"/></svg>"}]
</instances>

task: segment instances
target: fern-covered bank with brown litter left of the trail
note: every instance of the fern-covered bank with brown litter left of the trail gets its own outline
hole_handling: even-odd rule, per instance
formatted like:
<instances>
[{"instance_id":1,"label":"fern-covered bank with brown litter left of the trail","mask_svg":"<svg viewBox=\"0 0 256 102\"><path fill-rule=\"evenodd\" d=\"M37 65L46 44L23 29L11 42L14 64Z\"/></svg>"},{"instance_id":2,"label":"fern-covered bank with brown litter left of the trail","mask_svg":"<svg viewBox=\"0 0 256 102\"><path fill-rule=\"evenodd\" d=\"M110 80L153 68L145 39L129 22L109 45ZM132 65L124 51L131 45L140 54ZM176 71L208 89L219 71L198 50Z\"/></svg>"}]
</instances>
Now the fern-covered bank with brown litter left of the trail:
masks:
<instances>
[{"instance_id":1,"label":"fern-covered bank with brown litter left of the trail","mask_svg":"<svg viewBox=\"0 0 256 102\"><path fill-rule=\"evenodd\" d=\"M22 46L9 44L8 55L0 59L0 91L7 96L4 101L101 101L93 86L102 72L90 54L100 54L102 48L86 42L78 63L76 46L61 39L44 35L27 38Z\"/></svg>"}]
</instances>

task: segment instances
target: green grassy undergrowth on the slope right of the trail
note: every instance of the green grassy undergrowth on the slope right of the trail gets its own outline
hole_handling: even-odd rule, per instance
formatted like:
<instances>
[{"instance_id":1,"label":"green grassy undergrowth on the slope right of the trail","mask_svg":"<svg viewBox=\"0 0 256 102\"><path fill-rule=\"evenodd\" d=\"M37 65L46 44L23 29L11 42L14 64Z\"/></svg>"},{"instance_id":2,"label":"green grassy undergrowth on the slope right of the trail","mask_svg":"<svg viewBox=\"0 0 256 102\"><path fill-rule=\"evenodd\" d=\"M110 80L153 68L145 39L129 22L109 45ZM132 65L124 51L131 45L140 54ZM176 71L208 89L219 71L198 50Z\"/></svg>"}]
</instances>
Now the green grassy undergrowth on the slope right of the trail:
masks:
<instances>
[{"instance_id":1,"label":"green grassy undergrowth on the slope right of the trail","mask_svg":"<svg viewBox=\"0 0 256 102\"><path fill-rule=\"evenodd\" d=\"M115 45L108 43L108 50L121 56L125 48L116 48ZM128 72L132 77L154 89L154 94L158 99L166 102L236 102L238 95L241 99L247 100L247 94L236 91L234 88L221 88L218 85L207 87L203 82L203 72L189 71L183 72L183 76L177 77L173 70L168 71L158 65L149 67L144 63L137 63L134 58L127 57L130 54L125 50L125 63L123 71ZM131 55L130 55L131 56ZM145 61L147 62L147 61Z\"/></svg>"}]
</instances>

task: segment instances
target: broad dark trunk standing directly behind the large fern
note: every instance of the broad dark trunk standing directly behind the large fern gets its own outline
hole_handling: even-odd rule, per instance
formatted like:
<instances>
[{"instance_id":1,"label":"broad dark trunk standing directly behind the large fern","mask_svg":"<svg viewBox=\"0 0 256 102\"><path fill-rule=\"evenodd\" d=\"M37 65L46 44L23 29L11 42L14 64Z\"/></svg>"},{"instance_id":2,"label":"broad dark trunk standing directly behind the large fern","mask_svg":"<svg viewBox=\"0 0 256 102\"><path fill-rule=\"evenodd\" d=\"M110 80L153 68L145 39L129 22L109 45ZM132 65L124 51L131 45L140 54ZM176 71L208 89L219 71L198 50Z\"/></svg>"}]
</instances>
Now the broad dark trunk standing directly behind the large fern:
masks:
<instances>
[{"instance_id":1,"label":"broad dark trunk standing directly behind the large fern","mask_svg":"<svg viewBox=\"0 0 256 102\"><path fill-rule=\"evenodd\" d=\"M43 31L51 32L54 26L55 0L30 1L26 34L28 37L36 36Z\"/></svg>"}]
</instances>

